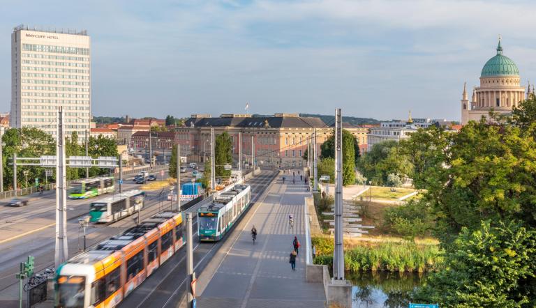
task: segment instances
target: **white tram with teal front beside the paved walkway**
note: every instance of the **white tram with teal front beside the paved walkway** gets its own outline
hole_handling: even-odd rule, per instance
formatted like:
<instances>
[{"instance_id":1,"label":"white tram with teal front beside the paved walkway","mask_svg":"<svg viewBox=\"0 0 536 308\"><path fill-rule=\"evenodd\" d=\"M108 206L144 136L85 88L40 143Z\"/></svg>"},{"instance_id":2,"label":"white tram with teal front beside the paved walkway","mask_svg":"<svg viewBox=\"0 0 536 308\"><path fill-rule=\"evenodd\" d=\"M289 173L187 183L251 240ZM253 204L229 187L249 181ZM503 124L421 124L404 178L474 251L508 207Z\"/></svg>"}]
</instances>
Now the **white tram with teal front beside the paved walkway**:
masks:
<instances>
[{"instance_id":1,"label":"white tram with teal front beside the paved walkway","mask_svg":"<svg viewBox=\"0 0 536 308\"><path fill-rule=\"evenodd\" d=\"M221 240L241 215L246 213L251 201L249 185L234 185L214 197L214 201L198 210L198 238L201 242Z\"/></svg>"}]
</instances>

